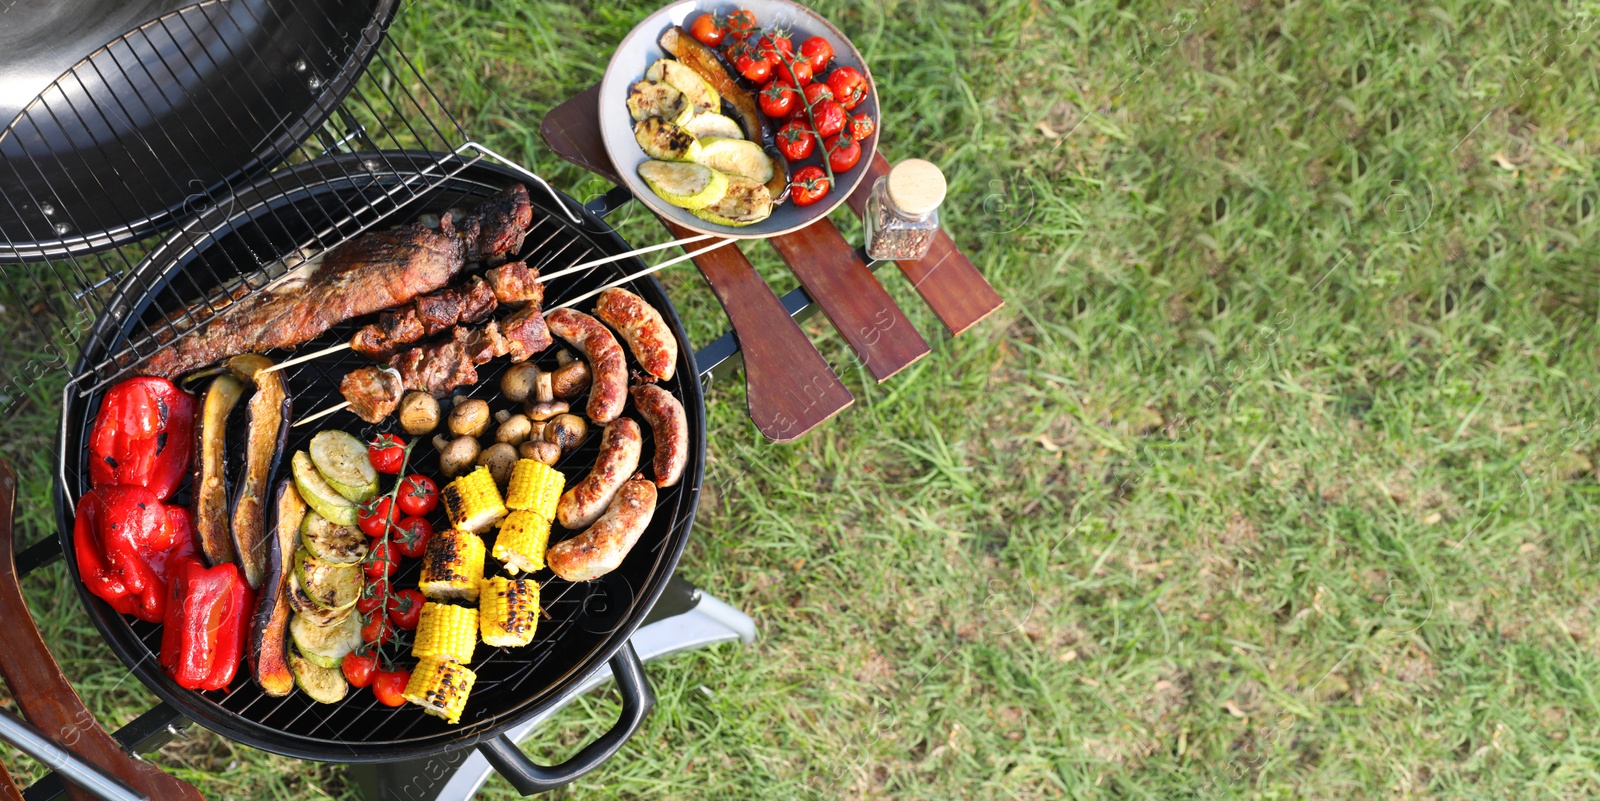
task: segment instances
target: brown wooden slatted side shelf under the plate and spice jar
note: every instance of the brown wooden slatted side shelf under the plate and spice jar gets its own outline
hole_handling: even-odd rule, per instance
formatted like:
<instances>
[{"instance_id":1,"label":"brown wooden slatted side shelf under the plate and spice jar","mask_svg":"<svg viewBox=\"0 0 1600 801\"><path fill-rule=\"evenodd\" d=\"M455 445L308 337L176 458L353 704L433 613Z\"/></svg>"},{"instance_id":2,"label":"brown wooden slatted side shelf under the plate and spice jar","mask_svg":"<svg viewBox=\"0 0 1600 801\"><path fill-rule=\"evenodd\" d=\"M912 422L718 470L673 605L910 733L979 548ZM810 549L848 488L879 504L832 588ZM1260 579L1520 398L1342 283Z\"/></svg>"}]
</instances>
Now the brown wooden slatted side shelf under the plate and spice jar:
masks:
<instances>
[{"instance_id":1,"label":"brown wooden slatted side shelf under the plate and spice jar","mask_svg":"<svg viewBox=\"0 0 1600 801\"><path fill-rule=\"evenodd\" d=\"M595 85L557 106L544 117L539 133L562 158L619 184L600 137L598 98ZM872 182L888 169L882 153L867 165L867 176L848 198L856 214L864 211ZM693 233L666 219L662 224L677 238ZM874 275L875 264L845 241L832 221L822 219L768 241L877 381L928 355L928 342ZM750 419L762 435L773 441L795 440L854 403L834 368L800 331L792 317L794 304L779 301L738 246L696 256L694 264L733 325L744 357ZM944 232L934 238L928 256L896 264L952 336L1003 304Z\"/></svg>"}]
</instances>

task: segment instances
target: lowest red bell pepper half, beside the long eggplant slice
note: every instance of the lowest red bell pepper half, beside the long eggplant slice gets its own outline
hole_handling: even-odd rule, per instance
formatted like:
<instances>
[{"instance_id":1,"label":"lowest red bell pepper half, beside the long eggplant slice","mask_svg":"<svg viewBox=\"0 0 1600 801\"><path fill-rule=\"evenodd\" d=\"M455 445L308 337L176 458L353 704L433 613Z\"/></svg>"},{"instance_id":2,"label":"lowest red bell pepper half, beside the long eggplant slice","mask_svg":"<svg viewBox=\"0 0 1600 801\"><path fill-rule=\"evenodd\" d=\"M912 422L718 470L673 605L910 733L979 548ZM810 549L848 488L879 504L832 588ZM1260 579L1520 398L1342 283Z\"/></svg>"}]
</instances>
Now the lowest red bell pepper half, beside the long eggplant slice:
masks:
<instances>
[{"instance_id":1,"label":"lowest red bell pepper half, beside the long eggplant slice","mask_svg":"<svg viewBox=\"0 0 1600 801\"><path fill-rule=\"evenodd\" d=\"M245 656L256 593L234 563L171 561L162 668L186 689L222 689Z\"/></svg>"}]
</instances>

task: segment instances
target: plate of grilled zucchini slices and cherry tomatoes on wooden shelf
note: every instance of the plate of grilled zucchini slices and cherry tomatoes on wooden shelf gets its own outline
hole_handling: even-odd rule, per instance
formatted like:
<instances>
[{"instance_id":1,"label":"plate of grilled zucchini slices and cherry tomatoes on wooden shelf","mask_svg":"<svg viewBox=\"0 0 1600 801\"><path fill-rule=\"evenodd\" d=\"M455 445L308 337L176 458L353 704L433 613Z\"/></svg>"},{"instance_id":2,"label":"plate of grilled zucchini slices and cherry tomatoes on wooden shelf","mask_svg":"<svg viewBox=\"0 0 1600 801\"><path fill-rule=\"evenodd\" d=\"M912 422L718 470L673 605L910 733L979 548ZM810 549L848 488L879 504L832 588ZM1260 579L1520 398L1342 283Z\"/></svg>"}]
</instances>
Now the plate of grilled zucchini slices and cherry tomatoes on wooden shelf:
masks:
<instances>
[{"instance_id":1,"label":"plate of grilled zucchini slices and cherry tomatoes on wooden shelf","mask_svg":"<svg viewBox=\"0 0 1600 801\"><path fill-rule=\"evenodd\" d=\"M870 74L838 29L798 3L754 0L733 16L717 13L669 5L622 38L600 85L606 153L629 189L678 225L738 238L789 233L827 216L866 176L861 161L878 139ZM725 19L749 30L730 32ZM693 161L730 185L656 161ZM810 166L824 179L797 192L794 176Z\"/></svg>"}]
</instances>

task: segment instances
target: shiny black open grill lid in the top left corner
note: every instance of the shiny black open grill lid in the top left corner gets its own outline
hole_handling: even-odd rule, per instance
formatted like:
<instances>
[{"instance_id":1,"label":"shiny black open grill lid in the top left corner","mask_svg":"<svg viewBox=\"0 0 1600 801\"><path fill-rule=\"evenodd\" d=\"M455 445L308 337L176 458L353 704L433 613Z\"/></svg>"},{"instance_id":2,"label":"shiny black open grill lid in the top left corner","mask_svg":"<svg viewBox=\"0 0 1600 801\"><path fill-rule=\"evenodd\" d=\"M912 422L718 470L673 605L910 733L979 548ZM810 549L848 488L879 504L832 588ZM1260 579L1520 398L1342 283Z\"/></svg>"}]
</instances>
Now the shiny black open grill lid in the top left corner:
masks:
<instances>
[{"instance_id":1,"label":"shiny black open grill lid in the top left corner","mask_svg":"<svg viewBox=\"0 0 1600 801\"><path fill-rule=\"evenodd\" d=\"M339 107L395 0L70 0L0 14L0 262L115 248Z\"/></svg>"}]
</instances>

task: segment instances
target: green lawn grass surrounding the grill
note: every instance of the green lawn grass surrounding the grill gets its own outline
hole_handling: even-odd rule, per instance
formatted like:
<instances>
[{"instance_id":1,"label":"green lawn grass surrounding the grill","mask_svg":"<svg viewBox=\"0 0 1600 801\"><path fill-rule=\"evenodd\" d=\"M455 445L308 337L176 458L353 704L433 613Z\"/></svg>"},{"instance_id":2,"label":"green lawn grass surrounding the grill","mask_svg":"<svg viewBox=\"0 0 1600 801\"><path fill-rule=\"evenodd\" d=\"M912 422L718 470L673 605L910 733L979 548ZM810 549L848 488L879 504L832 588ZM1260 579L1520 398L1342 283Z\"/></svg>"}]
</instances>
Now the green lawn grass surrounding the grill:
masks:
<instances>
[{"instance_id":1,"label":"green lawn grass surrounding the grill","mask_svg":"<svg viewBox=\"0 0 1600 801\"><path fill-rule=\"evenodd\" d=\"M651 8L397 32L470 131L592 195L538 122ZM557 796L1595 795L1600 5L818 8L1008 305L938 339L886 272L934 353L875 385L813 321L858 403L792 446L712 389L682 569L762 640L651 665L645 729ZM696 344L722 331L694 273L667 283ZM3 339L6 373L43 347ZM29 537L51 385L0 444ZM59 568L30 592L102 721L149 703ZM350 796L200 731L160 761L221 798Z\"/></svg>"}]
</instances>

